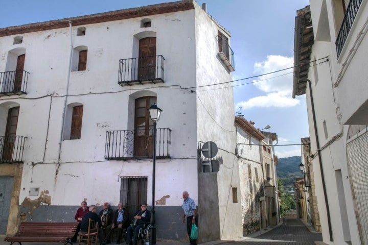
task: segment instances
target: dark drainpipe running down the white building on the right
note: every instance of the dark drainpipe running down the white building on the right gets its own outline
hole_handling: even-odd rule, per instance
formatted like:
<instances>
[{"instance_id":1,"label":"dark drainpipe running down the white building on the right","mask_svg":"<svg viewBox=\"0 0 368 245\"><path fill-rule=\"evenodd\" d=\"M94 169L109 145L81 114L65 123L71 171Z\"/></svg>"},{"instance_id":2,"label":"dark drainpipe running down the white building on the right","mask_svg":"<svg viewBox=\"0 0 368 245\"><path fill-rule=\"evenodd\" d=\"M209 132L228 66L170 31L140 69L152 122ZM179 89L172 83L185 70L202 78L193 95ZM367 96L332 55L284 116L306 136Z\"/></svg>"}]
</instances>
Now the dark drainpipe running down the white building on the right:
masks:
<instances>
[{"instance_id":1,"label":"dark drainpipe running down the white building on the right","mask_svg":"<svg viewBox=\"0 0 368 245\"><path fill-rule=\"evenodd\" d=\"M296 77L294 77L294 78L297 79L297 80L300 80L300 81L308 82L308 85L309 85L309 93L310 93L310 100L311 100L311 107L312 107L312 116L313 116L314 134L315 134L315 138L316 138L317 153L318 153L318 160L319 160L319 168L321 170L322 187L323 187L324 196L325 196L325 204L326 204L327 221L328 221L329 233L330 233L330 241L333 241L332 228L331 228L331 218L330 218L330 208L329 208L329 204L328 204L327 191L326 191L325 174L324 174L323 165L322 165L322 158L321 158L321 154L320 154L320 150L319 150L319 147L320 146L319 146L319 138L318 138L318 131L317 131L316 116L315 116L315 111L314 111L314 102L313 102L313 94L312 94L312 84L311 84L311 81L309 79L301 79L301 78L296 78Z\"/></svg>"}]
</instances>

